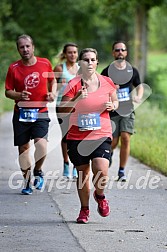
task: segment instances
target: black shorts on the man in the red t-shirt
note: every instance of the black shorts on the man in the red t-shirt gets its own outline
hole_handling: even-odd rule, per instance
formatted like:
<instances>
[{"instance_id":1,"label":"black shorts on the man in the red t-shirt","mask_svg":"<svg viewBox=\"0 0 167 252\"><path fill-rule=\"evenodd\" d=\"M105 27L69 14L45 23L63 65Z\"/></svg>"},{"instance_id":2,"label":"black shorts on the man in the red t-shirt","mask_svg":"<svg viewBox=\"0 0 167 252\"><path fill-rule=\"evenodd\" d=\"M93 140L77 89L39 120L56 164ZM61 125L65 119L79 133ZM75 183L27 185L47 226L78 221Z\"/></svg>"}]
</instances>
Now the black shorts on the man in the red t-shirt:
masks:
<instances>
[{"instance_id":1,"label":"black shorts on the man in the red t-shirt","mask_svg":"<svg viewBox=\"0 0 167 252\"><path fill-rule=\"evenodd\" d=\"M20 122L19 112L14 111L13 114L13 131L14 131L14 145L21 146L28 143L31 139L35 138L48 138L48 128L50 119L48 112L44 114L44 118L37 119L35 122Z\"/></svg>"}]
</instances>

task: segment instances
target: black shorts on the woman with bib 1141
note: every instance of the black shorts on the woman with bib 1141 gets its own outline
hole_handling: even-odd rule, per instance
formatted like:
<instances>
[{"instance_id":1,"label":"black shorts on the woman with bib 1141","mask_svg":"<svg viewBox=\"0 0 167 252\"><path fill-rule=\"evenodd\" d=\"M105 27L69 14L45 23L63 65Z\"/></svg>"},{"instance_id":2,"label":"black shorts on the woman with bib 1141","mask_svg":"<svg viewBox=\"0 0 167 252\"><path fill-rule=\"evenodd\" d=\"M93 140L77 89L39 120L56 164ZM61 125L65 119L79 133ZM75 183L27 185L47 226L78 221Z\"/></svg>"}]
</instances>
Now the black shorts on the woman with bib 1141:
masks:
<instances>
[{"instance_id":1,"label":"black shorts on the woman with bib 1141","mask_svg":"<svg viewBox=\"0 0 167 252\"><path fill-rule=\"evenodd\" d=\"M90 160L102 157L110 160L111 138L98 140L67 140L67 151L74 166L89 164Z\"/></svg>"}]
</instances>

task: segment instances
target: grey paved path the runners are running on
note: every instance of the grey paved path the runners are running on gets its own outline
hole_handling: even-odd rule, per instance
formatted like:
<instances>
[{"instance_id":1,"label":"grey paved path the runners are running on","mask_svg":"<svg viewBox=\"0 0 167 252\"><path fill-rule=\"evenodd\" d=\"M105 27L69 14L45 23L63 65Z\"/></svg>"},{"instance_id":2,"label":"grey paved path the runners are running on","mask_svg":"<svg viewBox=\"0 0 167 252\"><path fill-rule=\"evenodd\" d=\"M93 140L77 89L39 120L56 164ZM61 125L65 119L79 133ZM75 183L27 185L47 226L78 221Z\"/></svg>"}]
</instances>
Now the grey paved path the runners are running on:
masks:
<instances>
[{"instance_id":1,"label":"grey paved path the runners are running on","mask_svg":"<svg viewBox=\"0 0 167 252\"><path fill-rule=\"evenodd\" d=\"M118 150L106 188L110 216L98 215L92 187L90 221L75 223L79 213L75 182L61 177L61 134L52 111L51 117L45 188L30 196L20 194L12 115L0 118L0 252L167 251L167 179L130 157L128 182L116 182Z\"/></svg>"}]
</instances>

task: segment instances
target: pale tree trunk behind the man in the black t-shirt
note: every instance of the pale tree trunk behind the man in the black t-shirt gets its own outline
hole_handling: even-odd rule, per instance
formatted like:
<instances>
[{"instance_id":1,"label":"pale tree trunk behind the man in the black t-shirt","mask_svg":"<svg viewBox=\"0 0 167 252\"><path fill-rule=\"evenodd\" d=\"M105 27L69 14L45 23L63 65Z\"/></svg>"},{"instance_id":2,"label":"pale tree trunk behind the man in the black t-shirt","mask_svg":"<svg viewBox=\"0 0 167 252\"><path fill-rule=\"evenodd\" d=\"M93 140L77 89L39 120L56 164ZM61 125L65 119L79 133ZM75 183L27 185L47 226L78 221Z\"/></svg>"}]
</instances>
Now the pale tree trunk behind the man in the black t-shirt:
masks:
<instances>
[{"instance_id":1,"label":"pale tree trunk behind the man in the black t-shirt","mask_svg":"<svg viewBox=\"0 0 167 252\"><path fill-rule=\"evenodd\" d=\"M147 10L140 5L135 15L134 65L144 82L147 66Z\"/></svg>"}]
</instances>

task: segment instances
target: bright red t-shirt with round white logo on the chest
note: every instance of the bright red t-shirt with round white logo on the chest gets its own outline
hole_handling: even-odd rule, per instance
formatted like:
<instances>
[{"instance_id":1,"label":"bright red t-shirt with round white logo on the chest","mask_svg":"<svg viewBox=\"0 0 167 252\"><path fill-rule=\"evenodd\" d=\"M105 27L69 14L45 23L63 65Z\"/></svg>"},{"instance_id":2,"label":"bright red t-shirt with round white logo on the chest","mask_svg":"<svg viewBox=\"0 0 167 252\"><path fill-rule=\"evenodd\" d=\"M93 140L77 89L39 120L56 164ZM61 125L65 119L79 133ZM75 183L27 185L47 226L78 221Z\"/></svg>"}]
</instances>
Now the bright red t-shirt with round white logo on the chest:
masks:
<instances>
[{"instance_id":1,"label":"bright red t-shirt with round white logo on the chest","mask_svg":"<svg viewBox=\"0 0 167 252\"><path fill-rule=\"evenodd\" d=\"M16 92L22 92L27 89L27 91L32 93L28 102L32 104L35 101L36 107L44 108L47 104L47 84L54 79L54 74L52 74L52 66L48 59L36 58L37 62L32 66L24 65L21 60L12 63L7 72L5 89L15 90ZM15 102L17 104L19 101Z\"/></svg>"}]
</instances>

